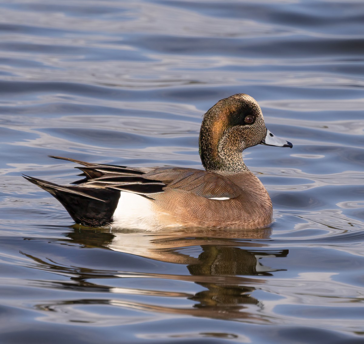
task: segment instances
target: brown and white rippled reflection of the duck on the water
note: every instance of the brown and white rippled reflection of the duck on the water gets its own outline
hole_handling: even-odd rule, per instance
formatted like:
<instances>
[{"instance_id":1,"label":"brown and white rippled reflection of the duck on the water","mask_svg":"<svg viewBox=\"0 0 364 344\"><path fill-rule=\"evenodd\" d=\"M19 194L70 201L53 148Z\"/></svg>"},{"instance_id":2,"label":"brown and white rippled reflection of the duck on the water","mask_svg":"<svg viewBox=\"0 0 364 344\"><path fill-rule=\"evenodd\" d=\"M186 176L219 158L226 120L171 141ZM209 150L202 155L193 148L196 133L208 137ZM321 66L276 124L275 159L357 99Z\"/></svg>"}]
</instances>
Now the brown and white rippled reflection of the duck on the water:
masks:
<instances>
[{"instance_id":1,"label":"brown and white rippled reflection of the duck on the water","mask_svg":"<svg viewBox=\"0 0 364 344\"><path fill-rule=\"evenodd\" d=\"M71 277L70 282L57 282L59 287L93 292L108 292L128 295L163 296L169 298L185 298L195 302L189 307L173 307L163 303L158 305L112 298L99 300L102 304L117 305L145 311L161 313L188 314L194 316L214 317L219 319L257 318L257 312L264 307L252 296L257 285L265 283L265 276L270 276L278 267L271 268L260 263L264 256L285 257L288 250L273 250L265 246L270 228L260 231L242 232L241 230L217 231L196 229L188 232L183 230L170 232L132 232L111 230L90 230L75 228L68 233L73 243L84 247L107 248L128 254L139 255L163 262L185 264L190 275L148 274L134 272L115 272L110 276L101 276L92 271L79 270ZM237 239L244 238L244 239ZM189 249L190 248L190 249ZM189 254L183 252L190 252ZM191 254L191 251L193 254ZM198 252L197 254L194 252ZM28 255L29 257L29 255ZM31 257L40 263L39 258ZM50 265L49 261L43 264ZM56 266L54 267L56 268ZM110 272L110 271L109 271ZM259 276L259 277L258 277ZM97 278L157 278L168 280L189 281L203 287L194 295L175 291L146 290L139 288L108 287L88 282ZM139 298L142 300L142 298ZM95 303L95 299L90 303ZM72 301L65 301L71 302ZM82 299L83 303L87 300ZM252 314L251 307L256 307ZM57 305L39 305L46 310L60 307Z\"/></svg>"}]
</instances>

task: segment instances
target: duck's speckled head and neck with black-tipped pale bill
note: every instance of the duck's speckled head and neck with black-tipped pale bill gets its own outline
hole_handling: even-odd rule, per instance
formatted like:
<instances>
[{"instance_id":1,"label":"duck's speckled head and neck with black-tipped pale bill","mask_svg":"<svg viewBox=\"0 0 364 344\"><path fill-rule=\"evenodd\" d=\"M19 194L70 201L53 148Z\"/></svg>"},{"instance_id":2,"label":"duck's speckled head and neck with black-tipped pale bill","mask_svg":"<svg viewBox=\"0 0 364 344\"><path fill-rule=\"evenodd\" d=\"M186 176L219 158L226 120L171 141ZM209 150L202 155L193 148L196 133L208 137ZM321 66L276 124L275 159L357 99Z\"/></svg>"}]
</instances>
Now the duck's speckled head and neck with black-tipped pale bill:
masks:
<instances>
[{"instance_id":1,"label":"duck's speckled head and neck with black-tipped pale bill","mask_svg":"<svg viewBox=\"0 0 364 344\"><path fill-rule=\"evenodd\" d=\"M247 169L242 151L258 144L290 147L265 127L262 110L247 94L234 94L218 101L202 121L199 151L209 171L240 172Z\"/></svg>"}]
</instances>

